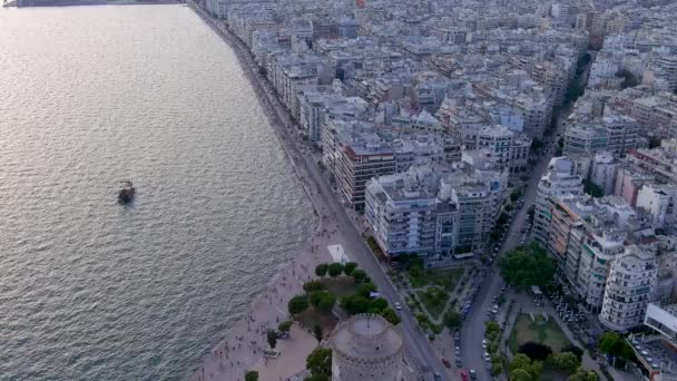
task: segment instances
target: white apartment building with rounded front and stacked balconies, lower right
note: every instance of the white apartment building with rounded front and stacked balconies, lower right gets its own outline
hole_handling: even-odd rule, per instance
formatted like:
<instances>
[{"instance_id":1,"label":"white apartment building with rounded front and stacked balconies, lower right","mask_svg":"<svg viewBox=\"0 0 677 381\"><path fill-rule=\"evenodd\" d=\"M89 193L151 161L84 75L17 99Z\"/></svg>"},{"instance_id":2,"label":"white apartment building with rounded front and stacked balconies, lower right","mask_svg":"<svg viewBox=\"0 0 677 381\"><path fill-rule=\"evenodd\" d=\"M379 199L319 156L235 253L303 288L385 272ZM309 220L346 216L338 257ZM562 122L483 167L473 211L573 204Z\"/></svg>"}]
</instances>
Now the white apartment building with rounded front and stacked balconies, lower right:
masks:
<instances>
[{"instance_id":1,"label":"white apartment building with rounded front and stacked balconies, lower right","mask_svg":"<svg viewBox=\"0 0 677 381\"><path fill-rule=\"evenodd\" d=\"M607 279L599 321L625 332L641 324L658 282L656 254L644 246L627 246L612 264Z\"/></svg>"}]
</instances>

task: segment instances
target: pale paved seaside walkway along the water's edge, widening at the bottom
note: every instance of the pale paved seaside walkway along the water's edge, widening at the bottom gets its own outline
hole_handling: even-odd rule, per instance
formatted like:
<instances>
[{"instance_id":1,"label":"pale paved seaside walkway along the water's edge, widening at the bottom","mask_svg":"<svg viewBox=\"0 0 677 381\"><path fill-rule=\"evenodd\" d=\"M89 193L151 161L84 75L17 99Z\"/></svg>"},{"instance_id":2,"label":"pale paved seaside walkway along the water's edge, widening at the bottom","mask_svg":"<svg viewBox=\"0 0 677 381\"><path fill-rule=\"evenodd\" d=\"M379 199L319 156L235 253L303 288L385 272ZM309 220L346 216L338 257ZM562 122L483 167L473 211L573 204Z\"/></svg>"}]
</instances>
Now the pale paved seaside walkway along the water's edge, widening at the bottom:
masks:
<instances>
[{"instance_id":1,"label":"pale paved seaside walkway along the water's edge, widening at the bottom","mask_svg":"<svg viewBox=\"0 0 677 381\"><path fill-rule=\"evenodd\" d=\"M282 121L278 115L279 109L269 99L271 95L262 89L264 84L261 82L262 79L257 78L259 76L258 65L254 61L251 52L225 26L218 26L218 21L208 16L199 6L190 1L187 2L187 6L235 52L243 74L252 86L258 104L290 160L294 174L311 203L314 215L318 218L315 231L301 246L300 252L293 256L291 263L284 265L266 283L263 292L252 301L247 312L248 315L237 320L226 331L224 338L212 349L206 359L203 359L202 365L196 369L192 377L192 380L196 381L244 380L246 371L261 367L262 363L266 365L268 363L263 355L263 350L267 349L265 330L276 329L278 322L291 319L286 311L288 299L303 292L303 283L315 276L315 265L332 261L326 246L341 240L335 236L337 223L325 215L324 211L327 211L327 206L323 205L321 199L314 197L317 194L311 188L311 176L303 165L305 162L298 157L294 148L290 147L294 144L290 131L285 130L285 127L287 129L290 127ZM273 96L275 95L273 94ZM253 323L258 325L254 330ZM297 328L297 324L295 324L295 328ZM285 341L281 340L278 342L284 343ZM237 346L235 346L235 343L237 343ZM245 343L244 348L242 348L243 343ZM269 362L272 361L269 360ZM303 355L303 361L305 361L305 355ZM285 375L285 378L288 375L291 374Z\"/></svg>"}]
</instances>

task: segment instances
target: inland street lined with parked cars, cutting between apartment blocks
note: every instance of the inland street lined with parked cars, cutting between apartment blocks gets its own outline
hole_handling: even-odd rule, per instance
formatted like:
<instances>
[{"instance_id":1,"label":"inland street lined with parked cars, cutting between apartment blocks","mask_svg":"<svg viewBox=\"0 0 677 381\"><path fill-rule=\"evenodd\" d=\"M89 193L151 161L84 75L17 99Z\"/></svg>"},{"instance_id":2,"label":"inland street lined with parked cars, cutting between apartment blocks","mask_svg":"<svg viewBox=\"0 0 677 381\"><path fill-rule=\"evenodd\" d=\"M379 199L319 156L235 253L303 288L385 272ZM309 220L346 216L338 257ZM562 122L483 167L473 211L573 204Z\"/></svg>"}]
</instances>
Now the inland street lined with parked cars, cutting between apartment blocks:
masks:
<instances>
[{"instance_id":1,"label":"inland street lined with parked cars, cutting between apartment blocks","mask_svg":"<svg viewBox=\"0 0 677 381\"><path fill-rule=\"evenodd\" d=\"M519 246L521 238L521 229L527 224L528 211L536 201L536 189L538 182L548 167L555 148L555 143L562 134L565 124L563 120L570 114L570 109L565 109L560 113L560 118L557 123L556 131L548 138L543 148L544 154L537 162L533 168L533 175L529 178L524 190L523 206L512 217L512 223L508 229L506 241L500 250L500 254L511 251ZM496 263L496 262L494 262ZM470 309L463 329L461 331L461 356L464 369L474 369L478 372L478 380L491 380L489 373L489 364L483 360L484 350L482 349L482 339L484 338L484 322L487 321L487 310L493 305L492 299L497 295L503 285L503 280L499 275L496 265L492 265L485 276L485 283L480 287L478 296Z\"/></svg>"}]
</instances>

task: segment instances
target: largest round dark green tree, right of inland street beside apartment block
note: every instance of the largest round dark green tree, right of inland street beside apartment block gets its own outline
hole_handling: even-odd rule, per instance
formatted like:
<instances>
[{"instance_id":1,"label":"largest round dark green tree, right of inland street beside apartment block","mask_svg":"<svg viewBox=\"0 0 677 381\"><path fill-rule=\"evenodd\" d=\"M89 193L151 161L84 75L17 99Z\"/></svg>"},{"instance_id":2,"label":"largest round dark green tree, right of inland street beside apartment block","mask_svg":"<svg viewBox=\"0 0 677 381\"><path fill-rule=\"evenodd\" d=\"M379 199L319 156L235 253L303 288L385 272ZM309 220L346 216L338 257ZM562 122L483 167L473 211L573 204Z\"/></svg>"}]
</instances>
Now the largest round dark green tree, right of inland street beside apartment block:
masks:
<instances>
[{"instance_id":1,"label":"largest round dark green tree, right of inland street beside apartment block","mask_svg":"<svg viewBox=\"0 0 677 381\"><path fill-rule=\"evenodd\" d=\"M555 260L537 243L519 246L498 261L501 276L518 291L532 285L547 287L555 276Z\"/></svg>"}]
</instances>

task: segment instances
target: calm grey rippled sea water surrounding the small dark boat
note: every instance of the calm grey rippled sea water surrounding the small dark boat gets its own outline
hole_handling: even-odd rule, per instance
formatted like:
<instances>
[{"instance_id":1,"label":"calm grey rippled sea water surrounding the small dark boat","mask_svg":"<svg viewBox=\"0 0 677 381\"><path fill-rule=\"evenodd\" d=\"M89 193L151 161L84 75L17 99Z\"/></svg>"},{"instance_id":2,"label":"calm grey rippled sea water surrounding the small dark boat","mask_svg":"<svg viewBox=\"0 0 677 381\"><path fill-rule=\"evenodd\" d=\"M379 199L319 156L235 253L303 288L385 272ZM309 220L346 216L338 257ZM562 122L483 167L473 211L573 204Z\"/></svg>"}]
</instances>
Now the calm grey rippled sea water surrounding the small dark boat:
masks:
<instances>
[{"instance_id":1,"label":"calm grey rippled sea water surrounding the small dark boat","mask_svg":"<svg viewBox=\"0 0 677 381\"><path fill-rule=\"evenodd\" d=\"M190 9L0 9L1 380L186 379L314 226Z\"/></svg>"}]
</instances>

